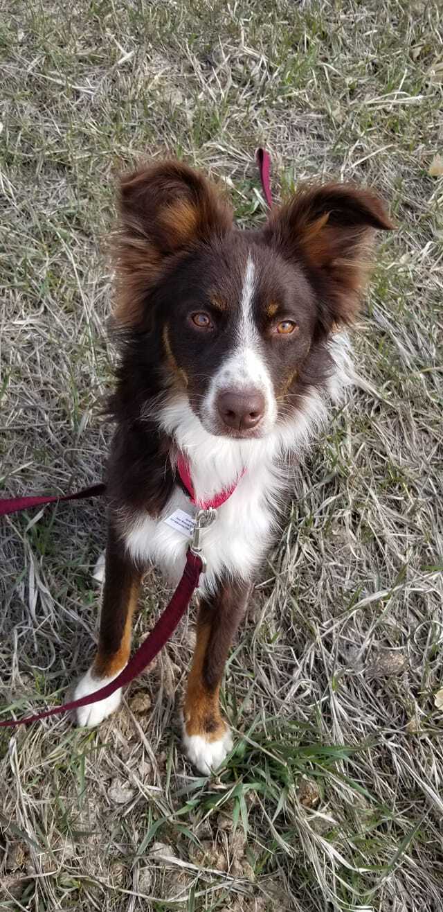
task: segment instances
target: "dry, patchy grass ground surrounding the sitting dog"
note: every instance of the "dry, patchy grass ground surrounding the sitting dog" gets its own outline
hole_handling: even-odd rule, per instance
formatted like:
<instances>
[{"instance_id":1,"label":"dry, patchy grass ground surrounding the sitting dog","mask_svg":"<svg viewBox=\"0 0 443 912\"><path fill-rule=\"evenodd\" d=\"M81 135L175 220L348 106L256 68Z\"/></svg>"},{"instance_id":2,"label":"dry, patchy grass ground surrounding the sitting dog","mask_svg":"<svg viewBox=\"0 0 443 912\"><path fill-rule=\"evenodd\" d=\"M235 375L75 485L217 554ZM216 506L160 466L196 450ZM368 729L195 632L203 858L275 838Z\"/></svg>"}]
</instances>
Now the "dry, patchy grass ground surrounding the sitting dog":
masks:
<instances>
[{"instance_id":1,"label":"dry, patchy grass ground surrounding the sitting dog","mask_svg":"<svg viewBox=\"0 0 443 912\"><path fill-rule=\"evenodd\" d=\"M119 169L169 150L260 223L263 143L276 198L356 181L397 223L353 333L360 379L300 466L232 650L236 750L211 780L180 751L194 611L98 731L3 731L2 909L443 908L440 14L437 0L2 4L5 492L104 471ZM6 712L62 700L88 667L104 533L99 502L1 524ZM136 644L166 597L150 575Z\"/></svg>"}]
</instances>

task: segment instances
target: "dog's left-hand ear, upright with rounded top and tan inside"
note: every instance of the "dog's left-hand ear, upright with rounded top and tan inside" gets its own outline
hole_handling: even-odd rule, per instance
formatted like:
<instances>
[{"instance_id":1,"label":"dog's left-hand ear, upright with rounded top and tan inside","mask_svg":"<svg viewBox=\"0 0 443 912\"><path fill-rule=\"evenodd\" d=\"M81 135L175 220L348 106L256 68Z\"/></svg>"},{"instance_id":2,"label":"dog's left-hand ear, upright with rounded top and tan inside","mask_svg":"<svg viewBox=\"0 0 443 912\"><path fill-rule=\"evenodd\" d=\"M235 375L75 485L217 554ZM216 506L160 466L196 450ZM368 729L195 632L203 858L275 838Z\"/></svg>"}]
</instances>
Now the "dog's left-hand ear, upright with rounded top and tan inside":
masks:
<instances>
[{"instance_id":1,"label":"dog's left-hand ear, upright with rounded top and tan inside","mask_svg":"<svg viewBox=\"0 0 443 912\"><path fill-rule=\"evenodd\" d=\"M136 326L170 258L228 232L232 209L197 171L161 161L123 175L119 212L115 318L118 326Z\"/></svg>"}]
</instances>

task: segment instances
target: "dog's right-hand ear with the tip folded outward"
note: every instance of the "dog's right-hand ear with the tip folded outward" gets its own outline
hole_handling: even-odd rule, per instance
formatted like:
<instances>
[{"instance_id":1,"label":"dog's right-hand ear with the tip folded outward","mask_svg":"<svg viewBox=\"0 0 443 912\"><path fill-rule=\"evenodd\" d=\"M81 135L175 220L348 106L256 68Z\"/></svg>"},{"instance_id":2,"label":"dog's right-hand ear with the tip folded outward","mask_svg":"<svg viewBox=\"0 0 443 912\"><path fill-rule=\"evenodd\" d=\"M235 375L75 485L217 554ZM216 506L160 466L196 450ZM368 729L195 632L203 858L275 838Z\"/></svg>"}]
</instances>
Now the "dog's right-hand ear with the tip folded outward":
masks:
<instances>
[{"instance_id":1,"label":"dog's right-hand ear with the tip folded outward","mask_svg":"<svg viewBox=\"0 0 443 912\"><path fill-rule=\"evenodd\" d=\"M314 285L321 328L352 323L365 284L376 230L389 231L383 202L350 184L306 187L271 213L268 244L296 260Z\"/></svg>"}]
</instances>

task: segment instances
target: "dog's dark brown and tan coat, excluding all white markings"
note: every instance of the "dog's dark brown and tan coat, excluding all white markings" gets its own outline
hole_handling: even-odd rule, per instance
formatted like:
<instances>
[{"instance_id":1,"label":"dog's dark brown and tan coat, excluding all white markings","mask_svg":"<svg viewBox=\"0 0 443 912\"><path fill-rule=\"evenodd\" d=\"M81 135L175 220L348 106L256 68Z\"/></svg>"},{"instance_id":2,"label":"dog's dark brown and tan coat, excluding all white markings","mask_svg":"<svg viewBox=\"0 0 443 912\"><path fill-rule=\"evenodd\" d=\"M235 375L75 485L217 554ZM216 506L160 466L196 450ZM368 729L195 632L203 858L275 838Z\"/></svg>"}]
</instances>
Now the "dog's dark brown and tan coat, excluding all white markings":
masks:
<instances>
[{"instance_id":1,"label":"dog's dark brown and tan coat, excluding all white markings","mask_svg":"<svg viewBox=\"0 0 443 912\"><path fill-rule=\"evenodd\" d=\"M143 568L118 539L134 516L159 516L180 481L176 444L156 420L159 402L187 387L191 409L213 371L237 344L248 257L255 266L252 319L282 415L303 412L306 394L322 391L333 369L328 339L352 322L376 229L392 227L382 202L345 184L302 188L258 231L232 226L232 210L201 174L179 161L141 166L122 178L117 243L121 358L109 411L116 433L108 467L110 528L98 657L101 675L129 657L130 620ZM196 311L210 315L208 330ZM281 319L297 330L279 337ZM149 410L150 409L150 410ZM201 410L199 410L201 409ZM229 436L211 417L211 434ZM288 473L289 476L289 473ZM117 531L115 531L117 530ZM230 568L227 568L226 577ZM221 578L201 602L197 645L184 705L186 731L221 738L219 691L248 587Z\"/></svg>"}]
</instances>

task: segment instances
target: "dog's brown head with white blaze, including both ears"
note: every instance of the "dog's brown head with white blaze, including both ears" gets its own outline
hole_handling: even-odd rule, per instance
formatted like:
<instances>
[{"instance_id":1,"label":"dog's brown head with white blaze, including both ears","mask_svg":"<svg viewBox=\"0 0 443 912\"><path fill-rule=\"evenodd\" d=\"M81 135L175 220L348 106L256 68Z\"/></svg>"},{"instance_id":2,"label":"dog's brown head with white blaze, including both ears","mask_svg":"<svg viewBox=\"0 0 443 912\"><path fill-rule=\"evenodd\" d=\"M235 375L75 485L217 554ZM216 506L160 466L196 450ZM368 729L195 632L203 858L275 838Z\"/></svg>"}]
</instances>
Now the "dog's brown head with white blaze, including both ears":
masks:
<instances>
[{"instance_id":1,"label":"dog's brown head with white blaze, including both ears","mask_svg":"<svg viewBox=\"0 0 443 912\"><path fill-rule=\"evenodd\" d=\"M327 340L352 323L376 229L373 192L303 189L239 231L209 181L178 161L121 181L119 326L140 401L174 397L215 436L261 438L325 383ZM158 399L157 399L158 401Z\"/></svg>"}]
</instances>

